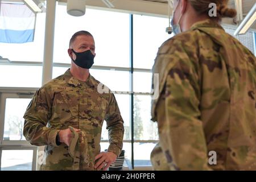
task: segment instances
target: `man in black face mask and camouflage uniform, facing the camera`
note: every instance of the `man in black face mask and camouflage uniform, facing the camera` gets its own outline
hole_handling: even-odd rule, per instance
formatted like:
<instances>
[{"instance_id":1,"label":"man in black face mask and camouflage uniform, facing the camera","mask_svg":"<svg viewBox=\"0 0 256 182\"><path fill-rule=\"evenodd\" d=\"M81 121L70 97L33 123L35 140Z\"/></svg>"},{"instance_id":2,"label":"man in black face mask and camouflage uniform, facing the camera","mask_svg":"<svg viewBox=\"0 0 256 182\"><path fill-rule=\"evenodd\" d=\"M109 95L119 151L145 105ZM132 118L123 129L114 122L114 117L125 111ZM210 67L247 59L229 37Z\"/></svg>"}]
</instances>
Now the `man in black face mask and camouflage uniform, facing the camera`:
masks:
<instances>
[{"instance_id":1,"label":"man in black face mask and camouflage uniform, facing the camera","mask_svg":"<svg viewBox=\"0 0 256 182\"><path fill-rule=\"evenodd\" d=\"M89 74L93 36L74 34L68 53L71 69L36 91L24 114L23 134L31 144L46 146L41 170L105 170L121 153L123 119L114 94ZM100 152L104 120L110 145Z\"/></svg>"}]
</instances>

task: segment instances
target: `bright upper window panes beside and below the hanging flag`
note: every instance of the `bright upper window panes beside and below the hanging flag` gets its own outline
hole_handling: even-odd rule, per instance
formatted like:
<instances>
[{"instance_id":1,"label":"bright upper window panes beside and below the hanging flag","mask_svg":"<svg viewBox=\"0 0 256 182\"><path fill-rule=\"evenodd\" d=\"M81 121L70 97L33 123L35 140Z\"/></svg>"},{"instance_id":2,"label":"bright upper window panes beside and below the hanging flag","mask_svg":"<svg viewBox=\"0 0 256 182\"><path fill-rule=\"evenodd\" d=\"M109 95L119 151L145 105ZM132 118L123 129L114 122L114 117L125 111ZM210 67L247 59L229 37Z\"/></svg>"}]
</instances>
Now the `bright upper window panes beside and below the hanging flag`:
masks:
<instances>
[{"instance_id":1,"label":"bright upper window panes beside and below the hanging flag","mask_svg":"<svg viewBox=\"0 0 256 182\"><path fill-rule=\"evenodd\" d=\"M45 22L46 13L36 14L34 42L0 42L0 87L41 86L42 66L36 62L43 61Z\"/></svg>"}]
</instances>

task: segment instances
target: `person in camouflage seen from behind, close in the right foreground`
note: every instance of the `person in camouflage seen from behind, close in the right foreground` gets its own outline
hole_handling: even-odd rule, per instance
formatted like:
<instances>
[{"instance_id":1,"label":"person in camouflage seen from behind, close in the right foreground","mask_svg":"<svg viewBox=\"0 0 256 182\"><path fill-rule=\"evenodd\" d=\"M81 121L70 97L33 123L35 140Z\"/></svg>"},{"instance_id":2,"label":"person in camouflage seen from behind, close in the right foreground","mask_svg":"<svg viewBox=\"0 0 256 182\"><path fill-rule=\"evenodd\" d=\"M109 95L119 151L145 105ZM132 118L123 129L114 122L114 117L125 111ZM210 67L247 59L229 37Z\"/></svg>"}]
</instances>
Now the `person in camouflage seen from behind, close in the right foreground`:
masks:
<instances>
[{"instance_id":1,"label":"person in camouflage seen from behind, close in the right foreground","mask_svg":"<svg viewBox=\"0 0 256 182\"><path fill-rule=\"evenodd\" d=\"M175 18L191 10L187 0L175 6ZM153 67L159 97L152 100L151 114L160 145L151 153L152 165L156 170L256 170L256 58L216 20L184 24L183 33L159 48ZM217 164L208 163L210 151L216 152Z\"/></svg>"}]
</instances>

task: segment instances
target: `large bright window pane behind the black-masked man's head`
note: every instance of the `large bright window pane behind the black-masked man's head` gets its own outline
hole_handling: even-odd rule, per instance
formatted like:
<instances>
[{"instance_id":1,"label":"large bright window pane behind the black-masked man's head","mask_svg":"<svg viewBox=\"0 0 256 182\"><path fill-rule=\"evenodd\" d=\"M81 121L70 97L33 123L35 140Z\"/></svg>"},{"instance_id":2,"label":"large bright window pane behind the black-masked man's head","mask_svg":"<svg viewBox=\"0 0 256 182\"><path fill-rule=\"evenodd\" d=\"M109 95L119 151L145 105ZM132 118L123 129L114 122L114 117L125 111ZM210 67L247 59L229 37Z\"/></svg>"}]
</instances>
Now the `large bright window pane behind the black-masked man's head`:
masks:
<instances>
[{"instance_id":1,"label":"large bright window pane behind the black-masked man's head","mask_svg":"<svg viewBox=\"0 0 256 182\"><path fill-rule=\"evenodd\" d=\"M54 62L71 62L67 53L69 40L80 30L89 31L94 37L94 65L129 67L129 14L86 9L86 16L75 17L67 14L66 6L57 6Z\"/></svg>"}]
</instances>

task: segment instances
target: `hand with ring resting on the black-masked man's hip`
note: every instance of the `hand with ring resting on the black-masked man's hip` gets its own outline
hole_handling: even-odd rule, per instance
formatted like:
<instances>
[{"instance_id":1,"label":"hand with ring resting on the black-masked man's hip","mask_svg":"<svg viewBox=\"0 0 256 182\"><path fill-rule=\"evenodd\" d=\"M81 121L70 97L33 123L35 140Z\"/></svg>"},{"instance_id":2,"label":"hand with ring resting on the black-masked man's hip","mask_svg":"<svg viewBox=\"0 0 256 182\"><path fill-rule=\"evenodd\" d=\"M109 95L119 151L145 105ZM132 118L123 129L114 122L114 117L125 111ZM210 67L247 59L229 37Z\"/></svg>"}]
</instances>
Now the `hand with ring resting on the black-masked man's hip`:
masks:
<instances>
[{"instance_id":1,"label":"hand with ring resting on the black-masked man's hip","mask_svg":"<svg viewBox=\"0 0 256 182\"><path fill-rule=\"evenodd\" d=\"M117 155L113 152L100 152L95 157L95 160L97 160L97 163L95 164L94 168L96 168L98 171L105 167L103 170L106 171L106 169L109 168L110 164L115 162L115 159L117 159Z\"/></svg>"}]
</instances>

